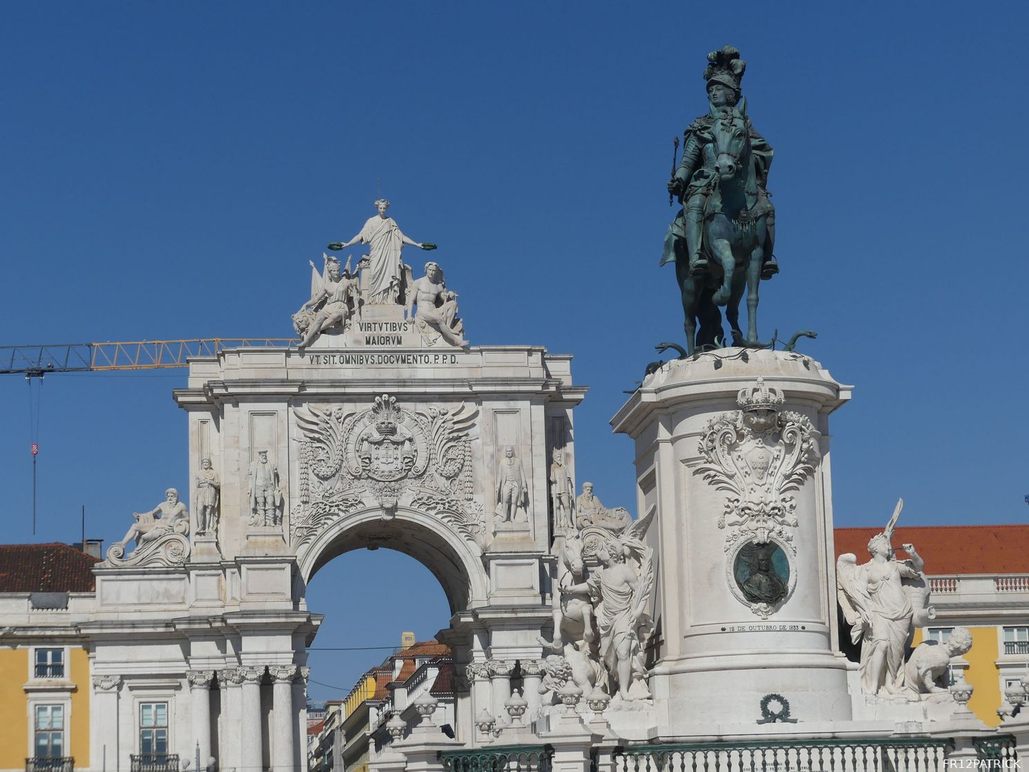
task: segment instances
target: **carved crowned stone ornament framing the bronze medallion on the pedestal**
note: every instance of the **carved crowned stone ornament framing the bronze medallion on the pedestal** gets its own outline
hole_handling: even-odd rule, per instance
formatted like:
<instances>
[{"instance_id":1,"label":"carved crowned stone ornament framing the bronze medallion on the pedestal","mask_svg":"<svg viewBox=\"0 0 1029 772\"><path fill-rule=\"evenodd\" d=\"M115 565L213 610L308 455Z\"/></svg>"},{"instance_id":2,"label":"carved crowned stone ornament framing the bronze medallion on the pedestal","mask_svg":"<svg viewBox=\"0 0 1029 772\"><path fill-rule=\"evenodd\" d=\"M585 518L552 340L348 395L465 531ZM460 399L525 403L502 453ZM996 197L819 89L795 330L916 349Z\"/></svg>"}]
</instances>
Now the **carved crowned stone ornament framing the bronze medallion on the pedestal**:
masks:
<instances>
[{"instance_id":1,"label":"carved crowned stone ornament framing the bronze medallion on the pedestal","mask_svg":"<svg viewBox=\"0 0 1029 772\"><path fill-rule=\"evenodd\" d=\"M700 442L705 463L695 469L729 493L718 518L718 527L726 529L726 581L733 595L761 619L778 610L796 584L793 531L799 523L796 500L789 494L820 460L818 431L807 416L779 410L783 401L782 391L769 388L760 377L753 387L740 389L741 410L723 413L705 427ZM788 589L776 602L748 600L737 586L735 560L748 543L783 548Z\"/></svg>"}]
</instances>

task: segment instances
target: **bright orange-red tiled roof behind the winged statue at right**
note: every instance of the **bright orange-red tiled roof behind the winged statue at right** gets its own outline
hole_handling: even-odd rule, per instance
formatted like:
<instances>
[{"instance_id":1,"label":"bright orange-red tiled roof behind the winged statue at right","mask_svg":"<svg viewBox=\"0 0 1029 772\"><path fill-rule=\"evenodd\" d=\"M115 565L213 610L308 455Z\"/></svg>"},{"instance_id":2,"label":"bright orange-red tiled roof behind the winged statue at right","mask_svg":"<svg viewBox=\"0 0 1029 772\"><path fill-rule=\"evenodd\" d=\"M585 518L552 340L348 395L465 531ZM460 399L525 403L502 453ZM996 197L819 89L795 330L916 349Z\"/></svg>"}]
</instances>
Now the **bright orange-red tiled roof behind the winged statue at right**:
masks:
<instances>
[{"instance_id":1,"label":"bright orange-red tiled roof behind the winged statue at right","mask_svg":"<svg viewBox=\"0 0 1029 772\"><path fill-rule=\"evenodd\" d=\"M868 557L868 539L882 528L837 528L836 554ZM914 545L930 576L948 573L1029 573L1029 525L930 525L900 527L893 547Z\"/></svg>"}]
</instances>

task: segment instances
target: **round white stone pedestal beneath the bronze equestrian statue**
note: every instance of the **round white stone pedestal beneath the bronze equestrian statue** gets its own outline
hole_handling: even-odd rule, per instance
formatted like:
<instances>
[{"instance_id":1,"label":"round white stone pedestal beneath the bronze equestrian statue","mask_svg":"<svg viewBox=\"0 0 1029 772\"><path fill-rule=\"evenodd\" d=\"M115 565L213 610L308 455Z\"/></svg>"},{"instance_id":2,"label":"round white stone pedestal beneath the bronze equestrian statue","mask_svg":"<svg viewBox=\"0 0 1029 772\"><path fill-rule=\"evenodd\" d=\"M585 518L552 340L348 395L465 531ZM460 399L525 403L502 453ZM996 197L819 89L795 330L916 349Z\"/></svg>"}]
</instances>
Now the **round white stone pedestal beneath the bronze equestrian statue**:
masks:
<instances>
[{"instance_id":1,"label":"round white stone pedestal beneath the bronze equestrian statue","mask_svg":"<svg viewBox=\"0 0 1029 772\"><path fill-rule=\"evenodd\" d=\"M801 721L851 717L828 447L849 397L808 357L723 349L666 364L612 419L636 442L638 517L655 514L660 734L755 726L769 694Z\"/></svg>"}]
</instances>

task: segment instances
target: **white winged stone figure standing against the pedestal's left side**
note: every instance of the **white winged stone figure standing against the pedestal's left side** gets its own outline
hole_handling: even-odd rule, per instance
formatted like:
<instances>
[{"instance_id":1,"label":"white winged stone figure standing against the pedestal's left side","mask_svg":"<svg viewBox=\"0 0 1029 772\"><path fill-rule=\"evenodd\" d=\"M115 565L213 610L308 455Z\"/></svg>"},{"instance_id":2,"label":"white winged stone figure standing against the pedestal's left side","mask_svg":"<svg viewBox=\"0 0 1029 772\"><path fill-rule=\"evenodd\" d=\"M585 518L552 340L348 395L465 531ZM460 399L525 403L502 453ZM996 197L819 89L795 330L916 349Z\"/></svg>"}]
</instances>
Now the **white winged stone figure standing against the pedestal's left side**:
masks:
<instances>
[{"instance_id":1,"label":"white winged stone figure standing against the pedestal's left side","mask_svg":"<svg viewBox=\"0 0 1029 772\"><path fill-rule=\"evenodd\" d=\"M607 531L597 557L602 567L563 595L589 592L596 608L600 657L623 700L650 698L643 652L653 630L647 613L653 594L653 550L643 543L653 512L620 535ZM605 529L606 530L606 529ZM609 687L610 689L610 687Z\"/></svg>"}]
</instances>

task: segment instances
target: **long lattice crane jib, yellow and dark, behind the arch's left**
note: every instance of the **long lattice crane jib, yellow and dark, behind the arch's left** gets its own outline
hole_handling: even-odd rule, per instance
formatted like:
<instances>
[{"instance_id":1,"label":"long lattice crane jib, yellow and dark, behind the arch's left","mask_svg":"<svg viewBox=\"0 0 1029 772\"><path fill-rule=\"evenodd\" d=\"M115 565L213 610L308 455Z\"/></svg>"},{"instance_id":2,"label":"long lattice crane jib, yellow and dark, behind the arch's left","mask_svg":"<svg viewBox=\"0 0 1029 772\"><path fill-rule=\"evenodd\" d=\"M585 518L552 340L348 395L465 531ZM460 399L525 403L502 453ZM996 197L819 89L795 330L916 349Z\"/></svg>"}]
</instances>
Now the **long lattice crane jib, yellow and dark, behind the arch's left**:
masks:
<instances>
[{"instance_id":1,"label":"long lattice crane jib, yellow and dark, behind the arch's left","mask_svg":"<svg viewBox=\"0 0 1029 772\"><path fill-rule=\"evenodd\" d=\"M21 373L31 379L42 378L47 373L184 367L191 357L214 356L222 349L288 348L295 343L292 338L196 338L185 341L0 346L0 375Z\"/></svg>"}]
</instances>

